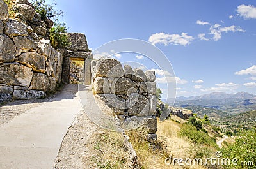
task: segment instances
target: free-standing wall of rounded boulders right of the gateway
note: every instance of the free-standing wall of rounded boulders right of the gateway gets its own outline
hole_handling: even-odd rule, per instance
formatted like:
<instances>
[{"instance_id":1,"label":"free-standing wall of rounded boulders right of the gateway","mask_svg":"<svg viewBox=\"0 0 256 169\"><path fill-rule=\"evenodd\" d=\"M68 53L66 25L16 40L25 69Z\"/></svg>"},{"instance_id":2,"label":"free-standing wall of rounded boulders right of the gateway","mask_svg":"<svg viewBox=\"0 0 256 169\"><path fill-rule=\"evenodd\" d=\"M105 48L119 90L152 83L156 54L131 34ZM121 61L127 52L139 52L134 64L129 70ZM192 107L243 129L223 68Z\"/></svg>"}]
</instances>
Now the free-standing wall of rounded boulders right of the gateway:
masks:
<instances>
[{"instance_id":1,"label":"free-standing wall of rounded boulders right of the gateway","mask_svg":"<svg viewBox=\"0 0 256 169\"><path fill-rule=\"evenodd\" d=\"M122 121L122 128L132 129L143 124L148 133L155 133L155 72L132 70L129 65L123 68L116 59L93 60L91 66L93 92L111 107L113 115Z\"/></svg>"}]
</instances>

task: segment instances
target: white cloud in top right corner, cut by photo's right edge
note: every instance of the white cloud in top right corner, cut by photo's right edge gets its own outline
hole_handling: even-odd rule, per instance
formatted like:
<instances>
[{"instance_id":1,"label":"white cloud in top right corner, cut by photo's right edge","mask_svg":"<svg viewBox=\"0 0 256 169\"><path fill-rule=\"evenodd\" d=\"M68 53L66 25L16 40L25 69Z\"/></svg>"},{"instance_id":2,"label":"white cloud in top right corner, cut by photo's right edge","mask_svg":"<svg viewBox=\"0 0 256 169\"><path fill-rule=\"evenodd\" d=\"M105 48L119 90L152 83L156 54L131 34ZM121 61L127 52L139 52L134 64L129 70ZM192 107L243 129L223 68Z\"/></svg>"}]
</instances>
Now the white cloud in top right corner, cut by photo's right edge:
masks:
<instances>
[{"instance_id":1,"label":"white cloud in top right corner, cut by photo's right edge","mask_svg":"<svg viewBox=\"0 0 256 169\"><path fill-rule=\"evenodd\" d=\"M253 5L241 4L237 6L237 13L245 19L256 19L256 7Z\"/></svg>"}]
</instances>

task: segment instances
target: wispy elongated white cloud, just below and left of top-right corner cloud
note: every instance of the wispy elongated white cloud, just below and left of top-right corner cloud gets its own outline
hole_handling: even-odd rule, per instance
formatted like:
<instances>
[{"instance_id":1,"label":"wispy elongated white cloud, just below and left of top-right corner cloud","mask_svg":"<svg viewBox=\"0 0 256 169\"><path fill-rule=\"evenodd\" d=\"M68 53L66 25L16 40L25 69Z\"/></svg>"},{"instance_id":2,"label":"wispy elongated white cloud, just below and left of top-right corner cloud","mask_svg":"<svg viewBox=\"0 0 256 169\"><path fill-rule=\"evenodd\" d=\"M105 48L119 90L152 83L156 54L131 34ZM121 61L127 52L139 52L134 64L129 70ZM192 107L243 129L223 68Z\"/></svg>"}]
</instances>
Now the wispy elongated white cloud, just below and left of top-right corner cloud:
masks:
<instances>
[{"instance_id":1,"label":"wispy elongated white cloud, just below and left of top-right corner cloud","mask_svg":"<svg viewBox=\"0 0 256 169\"><path fill-rule=\"evenodd\" d=\"M241 27L239 26L228 26L228 27L221 27L220 24L214 24L210 27L210 33L213 34L213 40L218 41L221 39L222 33L227 33L228 31L234 32L245 32Z\"/></svg>"}]
</instances>

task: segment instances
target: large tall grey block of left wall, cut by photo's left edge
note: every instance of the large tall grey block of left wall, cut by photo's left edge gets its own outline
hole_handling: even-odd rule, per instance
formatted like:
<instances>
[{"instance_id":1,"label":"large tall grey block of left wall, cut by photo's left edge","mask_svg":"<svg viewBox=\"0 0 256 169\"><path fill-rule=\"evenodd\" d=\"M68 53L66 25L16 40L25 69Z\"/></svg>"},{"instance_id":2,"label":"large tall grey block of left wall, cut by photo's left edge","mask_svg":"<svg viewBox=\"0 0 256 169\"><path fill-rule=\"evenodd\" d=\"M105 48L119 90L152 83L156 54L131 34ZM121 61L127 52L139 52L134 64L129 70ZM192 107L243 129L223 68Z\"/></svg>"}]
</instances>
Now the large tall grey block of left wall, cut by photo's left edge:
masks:
<instances>
[{"instance_id":1,"label":"large tall grey block of left wall, cut by photo's left edge","mask_svg":"<svg viewBox=\"0 0 256 169\"><path fill-rule=\"evenodd\" d=\"M0 35L0 62L13 62L16 47L5 34Z\"/></svg>"}]
</instances>

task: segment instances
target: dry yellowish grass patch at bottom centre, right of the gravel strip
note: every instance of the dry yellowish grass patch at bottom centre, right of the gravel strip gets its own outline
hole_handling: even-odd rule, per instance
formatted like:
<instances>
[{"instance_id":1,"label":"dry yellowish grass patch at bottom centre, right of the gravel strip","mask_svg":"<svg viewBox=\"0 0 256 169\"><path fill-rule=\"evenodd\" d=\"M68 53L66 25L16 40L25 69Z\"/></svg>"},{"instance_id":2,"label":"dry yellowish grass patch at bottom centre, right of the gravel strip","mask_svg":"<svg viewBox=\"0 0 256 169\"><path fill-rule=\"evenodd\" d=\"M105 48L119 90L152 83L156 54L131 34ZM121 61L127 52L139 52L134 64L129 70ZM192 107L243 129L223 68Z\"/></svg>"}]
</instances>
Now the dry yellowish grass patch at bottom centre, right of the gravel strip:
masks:
<instances>
[{"instance_id":1,"label":"dry yellowish grass patch at bottom centre, right of the gravel strip","mask_svg":"<svg viewBox=\"0 0 256 169\"><path fill-rule=\"evenodd\" d=\"M95 137L91 160L95 168L130 168L129 151L125 149L124 137L115 131L105 131Z\"/></svg>"}]
</instances>

